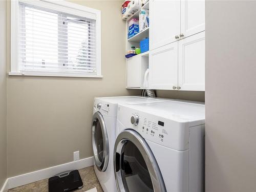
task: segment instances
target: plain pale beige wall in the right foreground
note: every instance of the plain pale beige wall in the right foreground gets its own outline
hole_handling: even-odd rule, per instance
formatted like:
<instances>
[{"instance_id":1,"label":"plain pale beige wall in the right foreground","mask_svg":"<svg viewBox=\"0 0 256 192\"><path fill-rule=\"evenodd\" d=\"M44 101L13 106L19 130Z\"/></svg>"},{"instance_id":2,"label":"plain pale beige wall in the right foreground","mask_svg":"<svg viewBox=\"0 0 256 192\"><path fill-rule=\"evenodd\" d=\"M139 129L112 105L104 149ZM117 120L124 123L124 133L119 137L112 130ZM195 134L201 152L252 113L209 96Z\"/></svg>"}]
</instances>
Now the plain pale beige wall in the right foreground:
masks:
<instances>
[{"instance_id":1,"label":"plain pale beige wall in the right foreground","mask_svg":"<svg viewBox=\"0 0 256 192\"><path fill-rule=\"evenodd\" d=\"M256 191L256 1L206 2L206 191Z\"/></svg>"}]
</instances>

